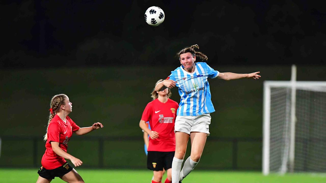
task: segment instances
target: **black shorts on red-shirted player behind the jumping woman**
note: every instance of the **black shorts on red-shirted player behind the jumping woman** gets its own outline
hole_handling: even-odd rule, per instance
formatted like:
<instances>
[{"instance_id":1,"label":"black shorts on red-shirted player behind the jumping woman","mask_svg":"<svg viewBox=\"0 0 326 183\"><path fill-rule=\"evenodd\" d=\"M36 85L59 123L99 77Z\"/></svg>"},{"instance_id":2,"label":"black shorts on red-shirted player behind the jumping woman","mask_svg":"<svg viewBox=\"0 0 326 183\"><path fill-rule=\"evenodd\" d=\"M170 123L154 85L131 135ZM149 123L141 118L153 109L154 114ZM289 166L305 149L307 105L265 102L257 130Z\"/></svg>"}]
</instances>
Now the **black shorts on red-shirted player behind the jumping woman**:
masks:
<instances>
[{"instance_id":1,"label":"black shorts on red-shirted player behind the jumping woman","mask_svg":"<svg viewBox=\"0 0 326 183\"><path fill-rule=\"evenodd\" d=\"M162 171L172 168L172 161L175 151L160 152L148 151L147 168L153 171Z\"/></svg>"}]
</instances>

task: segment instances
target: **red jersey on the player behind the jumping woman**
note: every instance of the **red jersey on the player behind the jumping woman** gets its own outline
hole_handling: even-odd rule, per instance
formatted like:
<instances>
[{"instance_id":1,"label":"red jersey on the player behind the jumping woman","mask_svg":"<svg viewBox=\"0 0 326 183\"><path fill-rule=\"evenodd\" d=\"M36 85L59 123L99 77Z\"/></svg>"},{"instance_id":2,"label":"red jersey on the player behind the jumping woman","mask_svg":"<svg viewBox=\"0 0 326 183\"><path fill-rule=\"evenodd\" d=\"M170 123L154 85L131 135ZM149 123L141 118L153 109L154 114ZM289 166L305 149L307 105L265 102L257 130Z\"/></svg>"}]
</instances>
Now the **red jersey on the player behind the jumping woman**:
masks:
<instances>
[{"instance_id":1,"label":"red jersey on the player behind the jumping woman","mask_svg":"<svg viewBox=\"0 0 326 183\"><path fill-rule=\"evenodd\" d=\"M148 151L175 151L174 121L178 106L171 99L166 103L155 99L147 104L141 120L149 121L151 130L159 133L156 139L149 137Z\"/></svg>"}]
</instances>

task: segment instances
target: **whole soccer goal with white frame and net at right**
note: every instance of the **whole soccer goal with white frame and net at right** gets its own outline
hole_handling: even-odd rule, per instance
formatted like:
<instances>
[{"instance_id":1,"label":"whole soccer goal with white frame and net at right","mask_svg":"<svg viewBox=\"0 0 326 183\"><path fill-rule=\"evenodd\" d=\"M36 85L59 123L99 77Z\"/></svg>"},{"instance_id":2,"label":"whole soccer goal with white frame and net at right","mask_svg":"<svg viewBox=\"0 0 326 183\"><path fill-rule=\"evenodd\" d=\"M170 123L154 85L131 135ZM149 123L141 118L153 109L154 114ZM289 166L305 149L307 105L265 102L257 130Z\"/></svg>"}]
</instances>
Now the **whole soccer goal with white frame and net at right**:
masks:
<instances>
[{"instance_id":1,"label":"whole soccer goal with white frame and net at right","mask_svg":"<svg viewBox=\"0 0 326 183\"><path fill-rule=\"evenodd\" d=\"M326 82L264 82L264 175L326 172Z\"/></svg>"}]
</instances>

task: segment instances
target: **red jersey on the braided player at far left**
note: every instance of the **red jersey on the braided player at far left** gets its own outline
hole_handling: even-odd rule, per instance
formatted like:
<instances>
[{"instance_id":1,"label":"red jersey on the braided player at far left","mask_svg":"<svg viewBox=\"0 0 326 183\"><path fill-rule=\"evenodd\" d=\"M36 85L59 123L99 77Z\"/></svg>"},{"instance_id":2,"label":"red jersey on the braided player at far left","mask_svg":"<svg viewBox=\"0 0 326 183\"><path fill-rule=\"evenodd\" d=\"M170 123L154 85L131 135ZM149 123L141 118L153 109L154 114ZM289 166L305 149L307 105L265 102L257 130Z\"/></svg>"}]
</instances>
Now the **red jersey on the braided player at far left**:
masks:
<instances>
[{"instance_id":1,"label":"red jersey on the braided player at far left","mask_svg":"<svg viewBox=\"0 0 326 183\"><path fill-rule=\"evenodd\" d=\"M45 169L52 170L66 162L65 158L58 156L53 152L51 142L59 142L59 147L67 152L67 143L72 136L72 133L79 129L80 127L68 116L66 117L66 123L61 120L58 115L53 117L49 124L47 134L48 139L45 144L46 150L41 161L42 166Z\"/></svg>"}]
</instances>

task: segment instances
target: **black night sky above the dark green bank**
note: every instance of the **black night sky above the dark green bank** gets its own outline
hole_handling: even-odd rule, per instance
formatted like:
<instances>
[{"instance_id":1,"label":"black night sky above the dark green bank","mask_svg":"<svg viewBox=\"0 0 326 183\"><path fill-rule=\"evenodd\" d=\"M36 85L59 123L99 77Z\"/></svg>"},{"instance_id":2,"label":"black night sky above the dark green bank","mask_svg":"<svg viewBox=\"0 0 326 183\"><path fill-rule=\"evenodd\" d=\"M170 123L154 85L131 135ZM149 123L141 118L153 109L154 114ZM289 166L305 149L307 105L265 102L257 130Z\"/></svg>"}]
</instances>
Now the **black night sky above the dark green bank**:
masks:
<instances>
[{"instance_id":1,"label":"black night sky above the dark green bank","mask_svg":"<svg viewBox=\"0 0 326 183\"><path fill-rule=\"evenodd\" d=\"M157 27L151 6L165 13ZM177 66L194 44L210 64L326 64L322 1L0 1L0 12L0 68Z\"/></svg>"}]
</instances>

